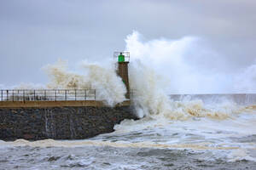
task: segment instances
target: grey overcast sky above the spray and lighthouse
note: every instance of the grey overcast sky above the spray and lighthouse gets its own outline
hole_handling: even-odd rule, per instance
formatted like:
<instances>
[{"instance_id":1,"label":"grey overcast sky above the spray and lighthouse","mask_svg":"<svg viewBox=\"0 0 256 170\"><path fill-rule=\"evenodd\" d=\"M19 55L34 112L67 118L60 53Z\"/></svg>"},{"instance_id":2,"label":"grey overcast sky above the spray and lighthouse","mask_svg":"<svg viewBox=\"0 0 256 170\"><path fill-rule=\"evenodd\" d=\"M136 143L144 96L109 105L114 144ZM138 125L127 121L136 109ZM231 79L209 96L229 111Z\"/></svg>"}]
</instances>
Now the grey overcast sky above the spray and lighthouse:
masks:
<instances>
[{"instance_id":1,"label":"grey overcast sky above the spray and lighthouse","mask_svg":"<svg viewBox=\"0 0 256 170\"><path fill-rule=\"evenodd\" d=\"M133 30L145 41L199 37L235 71L255 64L255 8L254 0L1 0L0 84L44 83L40 68L59 58L112 58Z\"/></svg>"}]
</instances>

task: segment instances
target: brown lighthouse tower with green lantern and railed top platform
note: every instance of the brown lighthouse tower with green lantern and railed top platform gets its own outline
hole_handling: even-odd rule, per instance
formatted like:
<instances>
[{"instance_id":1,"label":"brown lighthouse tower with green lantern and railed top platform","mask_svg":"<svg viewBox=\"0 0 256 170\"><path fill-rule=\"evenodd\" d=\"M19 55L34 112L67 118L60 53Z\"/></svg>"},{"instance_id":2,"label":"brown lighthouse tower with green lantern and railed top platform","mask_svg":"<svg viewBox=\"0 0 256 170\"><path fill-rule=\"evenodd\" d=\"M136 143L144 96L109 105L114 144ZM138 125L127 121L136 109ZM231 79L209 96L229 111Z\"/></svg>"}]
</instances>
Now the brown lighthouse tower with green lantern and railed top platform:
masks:
<instances>
[{"instance_id":1,"label":"brown lighthouse tower with green lantern and railed top platform","mask_svg":"<svg viewBox=\"0 0 256 170\"><path fill-rule=\"evenodd\" d=\"M114 52L113 59L118 61L117 74L122 78L125 83L127 93L125 94L126 99L130 99L130 87L129 87L129 77L128 77L128 64L130 61L129 52Z\"/></svg>"}]
</instances>

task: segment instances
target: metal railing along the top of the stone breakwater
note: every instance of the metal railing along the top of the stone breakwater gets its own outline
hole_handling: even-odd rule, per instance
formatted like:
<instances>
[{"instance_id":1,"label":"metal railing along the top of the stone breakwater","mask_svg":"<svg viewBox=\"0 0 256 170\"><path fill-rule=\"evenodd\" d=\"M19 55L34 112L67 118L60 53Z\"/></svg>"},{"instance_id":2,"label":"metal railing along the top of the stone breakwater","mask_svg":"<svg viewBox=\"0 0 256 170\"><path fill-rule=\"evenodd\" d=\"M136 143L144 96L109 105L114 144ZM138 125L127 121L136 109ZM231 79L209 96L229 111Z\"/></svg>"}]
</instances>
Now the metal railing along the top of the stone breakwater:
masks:
<instances>
[{"instance_id":1,"label":"metal railing along the top of the stone breakwater","mask_svg":"<svg viewBox=\"0 0 256 170\"><path fill-rule=\"evenodd\" d=\"M4 89L1 101L96 100L96 89Z\"/></svg>"}]
</instances>

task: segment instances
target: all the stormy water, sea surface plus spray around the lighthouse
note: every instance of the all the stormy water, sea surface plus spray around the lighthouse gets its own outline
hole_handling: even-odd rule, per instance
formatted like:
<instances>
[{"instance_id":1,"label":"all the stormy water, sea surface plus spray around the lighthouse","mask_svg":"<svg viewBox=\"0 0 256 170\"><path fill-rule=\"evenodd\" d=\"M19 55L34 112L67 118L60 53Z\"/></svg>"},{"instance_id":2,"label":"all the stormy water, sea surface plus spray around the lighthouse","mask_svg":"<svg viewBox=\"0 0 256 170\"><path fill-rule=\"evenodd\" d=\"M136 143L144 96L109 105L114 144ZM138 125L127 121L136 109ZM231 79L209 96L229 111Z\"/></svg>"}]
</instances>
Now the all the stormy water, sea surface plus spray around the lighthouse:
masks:
<instances>
[{"instance_id":1,"label":"all the stormy water, sea surface plus spray around the lighthouse","mask_svg":"<svg viewBox=\"0 0 256 170\"><path fill-rule=\"evenodd\" d=\"M125 120L113 133L91 139L0 140L0 169L256 169L255 94L169 99L165 91L255 92L255 65L235 77L201 68L202 58L187 50L195 48L193 37L142 42L135 31L125 42L134 59L129 81L136 89L133 105L141 119ZM48 65L47 88L97 89L96 99L113 106L124 101L126 90L110 67L84 61L83 74L76 74L65 63Z\"/></svg>"}]
</instances>

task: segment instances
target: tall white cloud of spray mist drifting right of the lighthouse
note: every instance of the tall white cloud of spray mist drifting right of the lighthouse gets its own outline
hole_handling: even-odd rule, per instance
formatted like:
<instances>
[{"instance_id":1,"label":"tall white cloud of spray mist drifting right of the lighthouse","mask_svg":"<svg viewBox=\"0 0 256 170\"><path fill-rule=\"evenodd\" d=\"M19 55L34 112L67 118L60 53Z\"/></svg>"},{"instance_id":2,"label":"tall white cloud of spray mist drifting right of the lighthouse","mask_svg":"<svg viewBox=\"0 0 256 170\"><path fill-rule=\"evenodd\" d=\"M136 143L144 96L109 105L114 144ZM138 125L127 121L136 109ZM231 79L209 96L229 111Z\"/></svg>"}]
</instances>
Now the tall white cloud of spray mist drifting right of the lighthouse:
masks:
<instances>
[{"instance_id":1,"label":"tall white cloud of spray mist drifting right of the lighthouse","mask_svg":"<svg viewBox=\"0 0 256 170\"><path fill-rule=\"evenodd\" d=\"M229 60L205 46L201 38L145 42L143 35L133 31L125 42L132 61L139 59L170 82L166 86L169 94L256 93L256 65L227 72Z\"/></svg>"}]
</instances>

